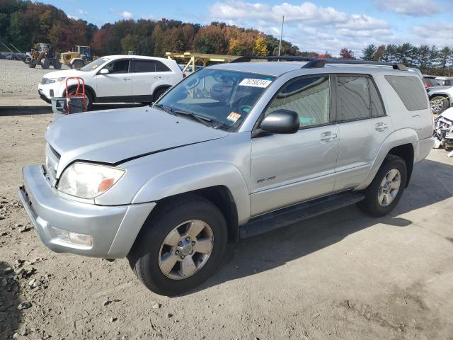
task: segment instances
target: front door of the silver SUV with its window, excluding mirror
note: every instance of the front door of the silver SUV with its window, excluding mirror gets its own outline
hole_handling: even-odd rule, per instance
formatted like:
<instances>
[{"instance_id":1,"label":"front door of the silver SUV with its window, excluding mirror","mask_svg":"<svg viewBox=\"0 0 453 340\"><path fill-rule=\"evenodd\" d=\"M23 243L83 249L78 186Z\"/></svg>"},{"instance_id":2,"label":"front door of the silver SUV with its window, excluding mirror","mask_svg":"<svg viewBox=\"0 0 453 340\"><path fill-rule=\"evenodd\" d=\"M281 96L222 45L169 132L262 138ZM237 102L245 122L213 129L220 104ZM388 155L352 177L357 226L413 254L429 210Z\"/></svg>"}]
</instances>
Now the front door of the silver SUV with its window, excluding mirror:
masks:
<instances>
[{"instance_id":1,"label":"front door of the silver SUV with its window, excluding mirror","mask_svg":"<svg viewBox=\"0 0 453 340\"><path fill-rule=\"evenodd\" d=\"M270 210L333 191L338 153L338 125L331 120L328 75L289 81L266 109L299 114L300 130L290 135L252 139L251 212Z\"/></svg>"}]
</instances>

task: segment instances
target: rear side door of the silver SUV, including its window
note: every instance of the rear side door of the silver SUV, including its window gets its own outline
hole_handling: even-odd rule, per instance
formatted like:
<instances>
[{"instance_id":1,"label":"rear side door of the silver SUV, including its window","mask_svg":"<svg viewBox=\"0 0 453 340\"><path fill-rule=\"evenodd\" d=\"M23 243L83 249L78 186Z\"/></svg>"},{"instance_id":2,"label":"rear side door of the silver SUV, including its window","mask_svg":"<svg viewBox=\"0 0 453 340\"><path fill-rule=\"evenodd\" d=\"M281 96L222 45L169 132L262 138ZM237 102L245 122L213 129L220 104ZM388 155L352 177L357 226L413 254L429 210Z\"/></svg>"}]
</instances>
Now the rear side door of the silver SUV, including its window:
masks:
<instances>
[{"instance_id":1,"label":"rear side door of the silver SUV, including its window","mask_svg":"<svg viewBox=\"0 0 453 340\"><path fill-rule=\"evenodd\" d=\"M342 191L365 180L392 129L372 77L337 74L335 84L339 149L334 191Z\"/></svg>"}]
</instances>

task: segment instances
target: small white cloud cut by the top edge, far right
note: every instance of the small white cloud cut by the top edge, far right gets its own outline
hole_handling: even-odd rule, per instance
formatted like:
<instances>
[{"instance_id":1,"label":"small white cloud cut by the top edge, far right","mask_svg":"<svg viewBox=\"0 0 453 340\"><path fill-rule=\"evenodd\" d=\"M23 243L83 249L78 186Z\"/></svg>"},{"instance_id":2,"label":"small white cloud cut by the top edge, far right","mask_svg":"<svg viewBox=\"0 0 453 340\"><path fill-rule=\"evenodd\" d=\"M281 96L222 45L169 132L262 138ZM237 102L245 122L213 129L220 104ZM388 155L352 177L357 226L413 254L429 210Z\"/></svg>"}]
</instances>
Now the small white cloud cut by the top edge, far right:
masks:
<instances>
[{"instance_id":1,"label":"small white cloud cut by the top edge, far right","mask_svg":"<svg viewBox=\"0 0 453 340\"><path fill-rule=\"evenodd\" d=\"M439 13L435 0L376 0L377 8L406 16L431 16Z\"/></svg>"}]
</instances>

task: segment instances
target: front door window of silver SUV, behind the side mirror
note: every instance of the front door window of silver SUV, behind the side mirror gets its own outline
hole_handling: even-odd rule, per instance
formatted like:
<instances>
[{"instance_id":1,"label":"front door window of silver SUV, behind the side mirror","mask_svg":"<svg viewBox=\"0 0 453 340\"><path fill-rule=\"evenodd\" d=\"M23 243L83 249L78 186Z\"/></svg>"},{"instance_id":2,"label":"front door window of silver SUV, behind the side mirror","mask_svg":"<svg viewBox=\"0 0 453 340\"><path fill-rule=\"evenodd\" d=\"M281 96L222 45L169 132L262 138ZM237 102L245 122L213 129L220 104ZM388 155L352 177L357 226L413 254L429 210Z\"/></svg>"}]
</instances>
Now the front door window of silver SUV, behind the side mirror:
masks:
<instances>
[{"instance_id":1,"label":"front door window of silver SUV, behind the side mirror","mask_svg":"<svg viewBox=\"0 0 453 340\"><path fill-rule=\"evenodd\" d=\"M299 114L301 128L329 123L331 94L328 76L301 78L283 86L265 115L280 109Z\"/></svg>"}]
</instances>

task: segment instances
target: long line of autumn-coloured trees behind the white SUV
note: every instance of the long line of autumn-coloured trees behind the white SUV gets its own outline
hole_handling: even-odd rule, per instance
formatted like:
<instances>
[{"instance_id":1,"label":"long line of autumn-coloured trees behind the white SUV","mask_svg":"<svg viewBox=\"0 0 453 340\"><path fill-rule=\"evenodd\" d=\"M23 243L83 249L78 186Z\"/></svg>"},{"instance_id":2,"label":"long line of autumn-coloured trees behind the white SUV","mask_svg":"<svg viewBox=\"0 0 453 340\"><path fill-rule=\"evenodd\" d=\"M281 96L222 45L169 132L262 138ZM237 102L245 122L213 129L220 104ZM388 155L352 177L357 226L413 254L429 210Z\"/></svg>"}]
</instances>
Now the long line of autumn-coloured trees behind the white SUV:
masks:
<instances>
[{"instance_id":1,"label":"long line of autumn-coloured trees behind the white SUV","mask_svg":"<svg viewBox=\"0 0 453 340\"><path fill-rule=\"evenodd\" d=\"M139 19L92 23L70 18L48 4L24 0L0 1L0 40L29 51L36 42L50 42L58 52L74 45L91 45L96 55L139 51L162 57L165 52L200 52L228 55L277 55L279 40L255 29L211 23L201 26L183 21ZM1 46L3 47L3 46ZM282 55L300 54L282 41Z\"/></svg>"}]
</instances>

